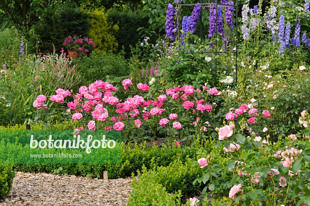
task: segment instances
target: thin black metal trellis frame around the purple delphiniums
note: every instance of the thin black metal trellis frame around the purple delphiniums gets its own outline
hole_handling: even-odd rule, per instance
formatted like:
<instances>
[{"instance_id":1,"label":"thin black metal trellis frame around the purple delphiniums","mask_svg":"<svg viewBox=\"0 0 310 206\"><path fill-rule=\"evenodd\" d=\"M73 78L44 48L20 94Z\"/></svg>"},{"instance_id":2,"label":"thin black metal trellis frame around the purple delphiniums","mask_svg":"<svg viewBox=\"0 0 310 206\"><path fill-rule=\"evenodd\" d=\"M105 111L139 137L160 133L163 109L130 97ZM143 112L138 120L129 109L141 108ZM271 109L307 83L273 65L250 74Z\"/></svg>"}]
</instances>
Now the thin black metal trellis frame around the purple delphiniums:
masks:
<instances>
[{"instance_id":1,"label":"thin black metal trellis frame around the purple delphiniums","mask_svg":"<svg viewBox=\"0 0 310 206\"><path fill-rule=\"evenodd\" d=\"M226 53L225 52L220 52L217 50L217 8L218 7L234 7L236 8L236 50L229 52L229 53L235 53L236 54L236 82L237 83L237 56L238 56L238 0L236 0L236 5L229 5L229 4L220 4L218 3L218 0L215 0L215 3L202 3L202 0L200 0L200 3L197 4L181 4L181 0L179 0L180 6L185 6L185 7L194 7L196 5L201 5L201 7L215 7L215 52L206 52L206 51L201 51L201 53L214 53L215 56L217 56L218 53ZM178 18L179 18L179 25L177 25L180 30L180 25L181 25L181 11L179 9L178 11ZM179 39L180 39L180 33L179 33ZM200 10L200 39L202 39L202 9ZM216 78L217 78L217 58L215 58L215 87L216 87Z\"/></svg>"}]
</instances>

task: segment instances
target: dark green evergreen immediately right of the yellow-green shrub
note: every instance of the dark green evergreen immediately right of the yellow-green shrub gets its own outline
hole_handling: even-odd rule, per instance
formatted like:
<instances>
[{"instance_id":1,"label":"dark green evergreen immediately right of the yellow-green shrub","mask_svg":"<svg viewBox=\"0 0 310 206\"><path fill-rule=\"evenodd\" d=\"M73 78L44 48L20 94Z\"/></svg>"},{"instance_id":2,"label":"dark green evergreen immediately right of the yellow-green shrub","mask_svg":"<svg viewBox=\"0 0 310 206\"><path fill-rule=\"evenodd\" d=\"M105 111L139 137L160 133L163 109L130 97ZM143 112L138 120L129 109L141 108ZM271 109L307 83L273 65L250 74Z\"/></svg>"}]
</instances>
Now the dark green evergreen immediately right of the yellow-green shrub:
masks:
<instances>
[{"instance_id":1,"label":"dark green evergreen immediately right of the yellow-green shrub","mask_svg":"<svg viewBox=\"0 0 310 206\"><path fill-rule=\"evenodd\" d=\"M119 30L113 33L118 43L118 52L124 46L124 51L126 52L125 57L127 59L130 58L131 50L129 45L134 46L141 39L137 29L140 27L148 28L148 20L141 13L112 9L108 13L108 21L117 24L119 27Z\"/></svg>"}]
</instances>

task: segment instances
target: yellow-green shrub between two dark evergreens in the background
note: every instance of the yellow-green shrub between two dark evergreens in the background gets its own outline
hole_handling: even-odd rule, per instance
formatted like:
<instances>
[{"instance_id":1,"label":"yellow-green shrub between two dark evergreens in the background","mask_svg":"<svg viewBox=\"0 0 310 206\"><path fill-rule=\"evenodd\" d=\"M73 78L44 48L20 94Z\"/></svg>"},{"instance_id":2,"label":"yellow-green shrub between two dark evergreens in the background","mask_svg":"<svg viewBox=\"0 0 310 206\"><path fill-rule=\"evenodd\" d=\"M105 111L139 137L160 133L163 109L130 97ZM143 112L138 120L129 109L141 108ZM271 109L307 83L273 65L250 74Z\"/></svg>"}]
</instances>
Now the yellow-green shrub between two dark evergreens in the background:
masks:
<instances>
[{"instance_id":1,"label":"yellow-green shrub between two dark evergreens in the background","mask_svg":"<svg viewBox=\"0 0 310 206\"><path fill-rule=\"evenodd\" d=\"M95 51L107 53L112 50L114 53L117 52L118 44L112 33L118 31L118 26L108 23L108 13L104 13L104 8L95 9L91 14L93 18L88 35L96 44Z\"/></svg>"}]
</instances>

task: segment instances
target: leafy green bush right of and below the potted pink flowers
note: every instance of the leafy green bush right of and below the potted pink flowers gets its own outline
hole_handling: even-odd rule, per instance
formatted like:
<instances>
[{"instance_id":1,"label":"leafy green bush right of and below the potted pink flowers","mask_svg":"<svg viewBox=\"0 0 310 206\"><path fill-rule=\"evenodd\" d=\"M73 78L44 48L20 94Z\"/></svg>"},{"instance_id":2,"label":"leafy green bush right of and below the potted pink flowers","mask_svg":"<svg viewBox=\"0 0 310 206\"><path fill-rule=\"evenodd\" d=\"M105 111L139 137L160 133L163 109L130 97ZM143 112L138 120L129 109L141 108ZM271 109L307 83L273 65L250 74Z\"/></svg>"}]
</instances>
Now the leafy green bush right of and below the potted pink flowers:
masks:
<instances>
[{"instance_id":1,"label":"leafy green bush right of and below the potted pink flowers","mask_svg":"<svg viewBox=\"0 0 310 206\"><path fill-rule=\"evenodd\" d=\"M76 61L79 71L83 72L83 78L88 82L103 80L113 77L129 75L129 65L122 55L115 54L97 54L91 52L87 57L80 58Z\"/></svg>"}]
</instances>

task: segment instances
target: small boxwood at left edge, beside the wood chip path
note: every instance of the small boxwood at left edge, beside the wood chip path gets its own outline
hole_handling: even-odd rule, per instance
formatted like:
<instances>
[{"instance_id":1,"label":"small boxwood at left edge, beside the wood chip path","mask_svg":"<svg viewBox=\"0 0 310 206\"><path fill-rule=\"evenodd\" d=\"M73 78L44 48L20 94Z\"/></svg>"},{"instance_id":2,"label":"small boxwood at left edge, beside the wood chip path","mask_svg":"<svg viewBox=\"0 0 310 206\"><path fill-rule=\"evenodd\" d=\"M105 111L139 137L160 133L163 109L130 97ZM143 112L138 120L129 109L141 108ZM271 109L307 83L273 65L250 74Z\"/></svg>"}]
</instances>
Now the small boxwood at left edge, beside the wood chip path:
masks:
<instances>
[{"instance_id":1,"label":"small boxwood at left edge, beside the wood chip path","mask_svg":"<svg viewBox=\"0 0 310 206\"><path fill-rule=\"evenodd\" d=\"M11 191L15 171L12 164L0 164L0 197L3 198Z\"/></svg>"}]
</instances>

